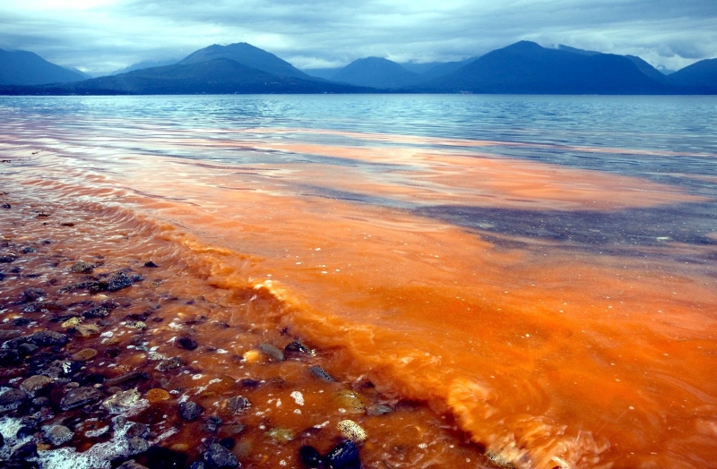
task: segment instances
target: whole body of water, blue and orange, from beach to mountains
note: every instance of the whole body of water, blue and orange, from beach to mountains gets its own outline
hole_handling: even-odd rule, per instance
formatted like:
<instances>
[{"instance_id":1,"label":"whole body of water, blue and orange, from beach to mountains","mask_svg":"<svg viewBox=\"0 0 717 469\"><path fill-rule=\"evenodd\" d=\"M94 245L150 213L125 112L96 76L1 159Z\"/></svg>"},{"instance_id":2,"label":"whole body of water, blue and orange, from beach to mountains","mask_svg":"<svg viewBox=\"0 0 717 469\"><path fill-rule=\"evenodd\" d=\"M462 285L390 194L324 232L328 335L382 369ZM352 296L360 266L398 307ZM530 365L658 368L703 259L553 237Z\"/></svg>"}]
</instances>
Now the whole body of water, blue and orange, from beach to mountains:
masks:
<instances>
[{"instance_id":1,"label":"whole body of water, blue and orange, from beach to mountains","mask_svg":"<svg viewBox=\"0 0 717 469\"><path fill-rule=\"evenodd\" d=\"M0 122L10 192L151 224L192 296L261 290L243 320L454 419L467 467L714 465L713 97L2 98ZM374 434L436 439L406 419Z\"/></svg>"}]
</instances>

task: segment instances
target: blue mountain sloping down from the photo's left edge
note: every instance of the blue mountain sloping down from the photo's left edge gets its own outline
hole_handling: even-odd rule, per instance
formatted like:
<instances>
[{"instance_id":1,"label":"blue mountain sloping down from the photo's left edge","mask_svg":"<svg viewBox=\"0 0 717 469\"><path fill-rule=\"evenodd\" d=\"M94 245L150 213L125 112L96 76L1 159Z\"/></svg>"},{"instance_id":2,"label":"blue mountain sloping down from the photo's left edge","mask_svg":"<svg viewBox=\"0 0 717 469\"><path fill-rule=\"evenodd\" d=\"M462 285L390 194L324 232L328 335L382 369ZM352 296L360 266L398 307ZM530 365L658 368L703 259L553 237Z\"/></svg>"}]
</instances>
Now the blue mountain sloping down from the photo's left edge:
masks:
<instances>
[{"instance_id":1,"label":"blue mountain sloping down from the photo's left edge","mask_svg":"<svg viewBox=\"0 0 717 469\"><path fill-rule=\"evenodd\" d=\"M52 64L32 52L0 49L0 85L42 85L82 80L84 77L79 72Z\"/></svg>"}]
</instances>

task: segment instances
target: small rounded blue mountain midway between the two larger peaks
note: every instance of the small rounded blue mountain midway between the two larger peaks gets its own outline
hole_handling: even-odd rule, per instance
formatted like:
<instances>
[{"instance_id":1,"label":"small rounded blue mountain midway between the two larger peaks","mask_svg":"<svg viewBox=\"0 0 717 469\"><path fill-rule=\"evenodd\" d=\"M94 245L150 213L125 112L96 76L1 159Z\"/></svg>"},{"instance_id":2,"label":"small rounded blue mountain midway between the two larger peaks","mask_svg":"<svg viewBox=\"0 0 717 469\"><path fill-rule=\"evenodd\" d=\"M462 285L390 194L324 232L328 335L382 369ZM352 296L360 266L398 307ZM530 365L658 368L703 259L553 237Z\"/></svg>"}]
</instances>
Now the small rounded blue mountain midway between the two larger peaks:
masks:
<instances>
[{"instance_id":1,"label":"small rounded blue mountain midway between the two larger peaks","mask_svg":"<svg viewBox=\"0 0 717 469\"><path fill-rule=\"evenodd\" d=\"M401 88L420 81L418 73L381 57L354 60L333 75L333 81L379 89Z\"/></svg>"}]
</instances>

